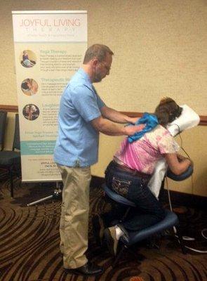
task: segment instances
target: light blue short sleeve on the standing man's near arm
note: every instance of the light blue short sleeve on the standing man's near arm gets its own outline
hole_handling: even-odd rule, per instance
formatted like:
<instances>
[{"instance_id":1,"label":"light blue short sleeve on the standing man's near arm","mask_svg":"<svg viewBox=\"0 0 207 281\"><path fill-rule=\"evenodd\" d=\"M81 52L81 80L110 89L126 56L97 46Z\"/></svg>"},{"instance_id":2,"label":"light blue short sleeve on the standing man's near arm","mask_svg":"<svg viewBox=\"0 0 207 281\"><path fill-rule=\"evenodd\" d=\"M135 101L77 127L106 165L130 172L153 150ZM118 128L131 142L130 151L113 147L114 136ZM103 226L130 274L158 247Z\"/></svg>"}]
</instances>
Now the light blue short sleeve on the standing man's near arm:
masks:
<instances>
[{"instance_id":1,"label":"light blue short sleeve on the standing man's near arm","mask_svg":"<svg viewBox=\"0 0 207 281\"><path fill-rule=\"evenodd\" d=\"M77 86L72 93L72 103L86 122L100 117L102 100L87 86Z\"/></svg>"}]
</instances>

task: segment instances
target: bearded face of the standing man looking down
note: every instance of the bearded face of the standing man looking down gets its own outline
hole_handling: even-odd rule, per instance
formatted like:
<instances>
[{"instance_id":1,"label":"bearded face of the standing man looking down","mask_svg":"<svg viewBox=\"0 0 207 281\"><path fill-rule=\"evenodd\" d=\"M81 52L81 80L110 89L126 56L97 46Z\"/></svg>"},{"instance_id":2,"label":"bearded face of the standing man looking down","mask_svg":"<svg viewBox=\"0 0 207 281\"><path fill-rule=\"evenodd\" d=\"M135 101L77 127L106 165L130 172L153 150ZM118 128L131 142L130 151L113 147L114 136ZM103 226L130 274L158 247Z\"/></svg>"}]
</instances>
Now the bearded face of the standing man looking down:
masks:
<instances>
[{"instance_id":1,"label":"bearded face of the standing man looking down","mask_svg":"<svg viewBox=\"0 0 207 281\"><path fill-rule=\"evenodd\" d=\"M112 65L112 55L107 53L105 60L97 63L95 66L95 72L93 75L93 82L100 82L103 78L109 75Z\"/></svg>"}]
</instances>

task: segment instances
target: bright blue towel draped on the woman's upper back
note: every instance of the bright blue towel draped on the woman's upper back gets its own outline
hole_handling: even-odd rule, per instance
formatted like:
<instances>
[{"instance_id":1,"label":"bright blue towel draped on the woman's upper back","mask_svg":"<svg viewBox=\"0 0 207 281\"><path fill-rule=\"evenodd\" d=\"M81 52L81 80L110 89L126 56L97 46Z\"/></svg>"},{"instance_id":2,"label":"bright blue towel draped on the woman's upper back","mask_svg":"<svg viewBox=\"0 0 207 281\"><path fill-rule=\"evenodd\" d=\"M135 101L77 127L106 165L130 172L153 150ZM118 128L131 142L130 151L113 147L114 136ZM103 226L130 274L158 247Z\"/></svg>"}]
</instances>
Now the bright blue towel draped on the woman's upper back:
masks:
<instances>
[{"instance_id":1,"label":"bright blue towel draped on the woman's upper back","mask_svg":"<svg viewBox=\"0 0 207 281\"><path fill-rule=\"evenodd\" d=\"M142 117L138 120L138 122L135 123L135 125L145 124L144 129L142 131L139 131L138 133L135 133L133 136L128 136L128 142L133 143L133 141L138 141L142 136L145 135L145 133L152 131L158 124L158 119L156 115L149 114L145 112Z\"/></svg>"}]
</instances>

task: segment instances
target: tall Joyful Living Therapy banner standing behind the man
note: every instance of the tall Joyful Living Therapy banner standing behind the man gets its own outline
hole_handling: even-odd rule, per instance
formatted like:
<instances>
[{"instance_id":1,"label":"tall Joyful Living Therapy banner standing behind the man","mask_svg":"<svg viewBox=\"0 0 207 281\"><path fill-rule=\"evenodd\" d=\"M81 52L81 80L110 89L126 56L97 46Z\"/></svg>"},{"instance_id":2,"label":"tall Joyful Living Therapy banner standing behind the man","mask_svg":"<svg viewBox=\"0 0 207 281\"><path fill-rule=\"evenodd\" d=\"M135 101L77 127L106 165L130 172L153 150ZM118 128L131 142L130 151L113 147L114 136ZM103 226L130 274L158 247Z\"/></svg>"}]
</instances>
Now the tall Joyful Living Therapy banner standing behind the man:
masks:
<instances>
[{"instance_id":1,"label":"tall Joyful Living Therapy banner standing behind the man","mask_svg":"<svg viewBox=\"0 0 207 281\"><path fill-rule=\"evenodd\" d=\"M13 11L22 181L60 181L53 162L60 96L83 62L86 11Z\"/></svg>"}]
</instances>

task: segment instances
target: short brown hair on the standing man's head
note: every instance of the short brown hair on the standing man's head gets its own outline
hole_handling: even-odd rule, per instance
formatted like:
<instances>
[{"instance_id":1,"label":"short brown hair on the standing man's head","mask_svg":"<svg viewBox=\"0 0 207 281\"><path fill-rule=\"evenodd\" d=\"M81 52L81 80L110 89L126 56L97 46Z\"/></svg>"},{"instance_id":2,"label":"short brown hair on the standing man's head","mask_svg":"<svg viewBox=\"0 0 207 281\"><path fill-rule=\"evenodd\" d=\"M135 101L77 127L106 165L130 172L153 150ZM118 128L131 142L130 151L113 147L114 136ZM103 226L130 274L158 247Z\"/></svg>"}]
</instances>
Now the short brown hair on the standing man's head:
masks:
<instances>
[{"instance_id":1,"label":"short brown hair on the standing man's head","mask_svg":"<svg viewBox=\"0 0 207 281\"><path fill-rule=\"evenodd\" d=\"M92 60L92 58L97 58L98 61L102 62L105 60L107 53L109 53L109 55L114 55L109 47L102 44L94 44L86 51L84 56L84 64L88 63L90 60Z\"/></svg>"}]
</instances>

